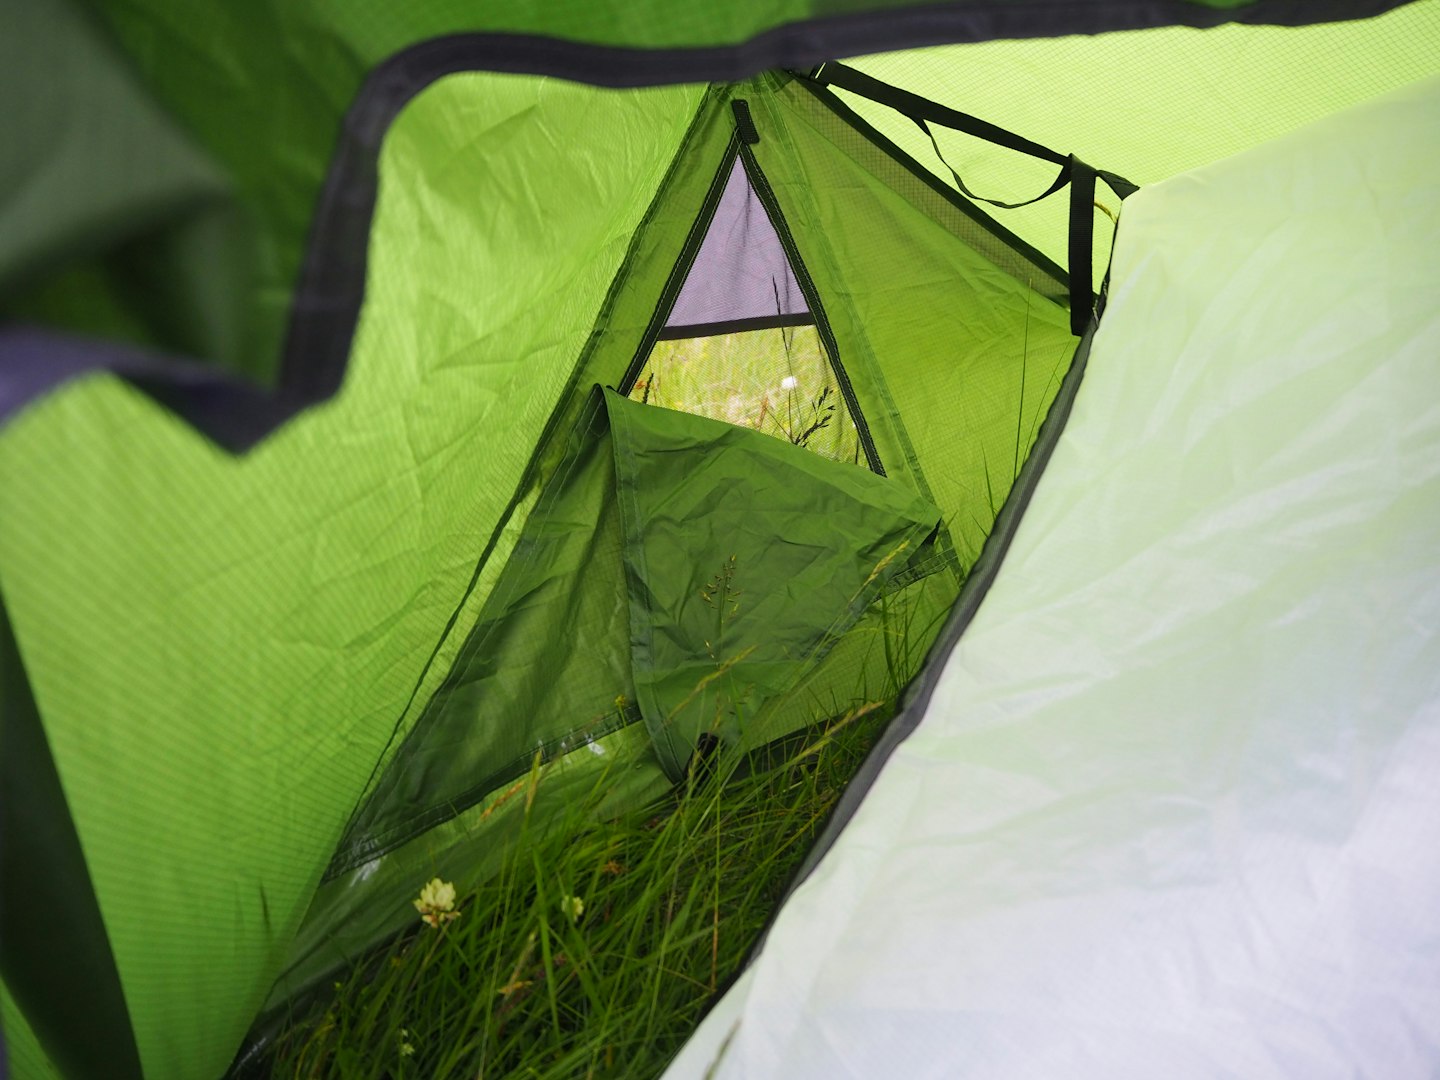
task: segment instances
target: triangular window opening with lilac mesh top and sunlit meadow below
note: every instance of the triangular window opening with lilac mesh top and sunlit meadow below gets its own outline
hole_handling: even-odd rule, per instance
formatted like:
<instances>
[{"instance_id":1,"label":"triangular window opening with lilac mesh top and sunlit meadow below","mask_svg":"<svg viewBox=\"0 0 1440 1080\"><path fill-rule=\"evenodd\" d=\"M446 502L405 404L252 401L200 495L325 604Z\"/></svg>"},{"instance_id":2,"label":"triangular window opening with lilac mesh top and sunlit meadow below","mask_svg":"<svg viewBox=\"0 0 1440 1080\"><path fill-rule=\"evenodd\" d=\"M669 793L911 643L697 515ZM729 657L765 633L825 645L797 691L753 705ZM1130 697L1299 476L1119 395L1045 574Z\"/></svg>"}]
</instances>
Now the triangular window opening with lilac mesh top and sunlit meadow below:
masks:
<instances>
[{"instance_id":1,"label":"triangular window opening with lilac mesh top and sunlit meadow below","mask_svg":"<svg viewBox=\"0 0 1440 1080\"><path fill-rule=\"evenodd\" d=\"M865 461L835 360L739 157L629 396Z\"/></svg>"}]
</instances>

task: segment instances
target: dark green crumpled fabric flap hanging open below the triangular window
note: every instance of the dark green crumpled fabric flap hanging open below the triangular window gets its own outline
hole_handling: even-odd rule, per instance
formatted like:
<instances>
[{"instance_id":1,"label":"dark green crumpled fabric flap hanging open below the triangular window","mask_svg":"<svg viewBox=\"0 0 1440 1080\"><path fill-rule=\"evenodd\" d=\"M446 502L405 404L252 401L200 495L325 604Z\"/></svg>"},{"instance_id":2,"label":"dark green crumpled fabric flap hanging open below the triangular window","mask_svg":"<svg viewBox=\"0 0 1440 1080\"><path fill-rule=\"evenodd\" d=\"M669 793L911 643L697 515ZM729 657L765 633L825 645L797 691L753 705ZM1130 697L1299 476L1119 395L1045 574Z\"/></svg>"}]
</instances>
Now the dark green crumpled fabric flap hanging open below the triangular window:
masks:
<instances>
[{"instance_id":1,"label":"dark green crumpled fabric flap hanging open below the triangular window","mask_svg":"<svg viewBox=\"0 0 1440 1080\"><path fill-rule=\"evenodd\" d=\"M606 390L636 703L677 778L822 657L926 547L901 484Z\"/></svg>"}]
</instances>

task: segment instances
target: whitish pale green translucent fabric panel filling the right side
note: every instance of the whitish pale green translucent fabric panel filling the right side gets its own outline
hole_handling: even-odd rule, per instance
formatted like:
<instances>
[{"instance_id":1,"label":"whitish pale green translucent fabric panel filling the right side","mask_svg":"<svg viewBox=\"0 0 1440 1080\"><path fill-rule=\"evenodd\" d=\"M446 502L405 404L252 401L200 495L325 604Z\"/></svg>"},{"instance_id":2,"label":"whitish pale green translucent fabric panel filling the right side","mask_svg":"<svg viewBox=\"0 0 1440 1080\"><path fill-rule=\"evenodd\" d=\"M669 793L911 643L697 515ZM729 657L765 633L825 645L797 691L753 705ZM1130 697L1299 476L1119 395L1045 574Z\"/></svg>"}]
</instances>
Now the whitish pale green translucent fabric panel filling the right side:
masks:
<instances>
[{"instance_id":1,"label":"whitish pale green translucent fabric panel filling the right side","mask_svg":"<svg viewBox=\"0 0 1440 1080\"><path fill-rule=\"evenodd\" d=\"M672 1076L1434 1074L1437 128L1433 79L1133 196L924 719Z\"/></svg>"}]
</instances>

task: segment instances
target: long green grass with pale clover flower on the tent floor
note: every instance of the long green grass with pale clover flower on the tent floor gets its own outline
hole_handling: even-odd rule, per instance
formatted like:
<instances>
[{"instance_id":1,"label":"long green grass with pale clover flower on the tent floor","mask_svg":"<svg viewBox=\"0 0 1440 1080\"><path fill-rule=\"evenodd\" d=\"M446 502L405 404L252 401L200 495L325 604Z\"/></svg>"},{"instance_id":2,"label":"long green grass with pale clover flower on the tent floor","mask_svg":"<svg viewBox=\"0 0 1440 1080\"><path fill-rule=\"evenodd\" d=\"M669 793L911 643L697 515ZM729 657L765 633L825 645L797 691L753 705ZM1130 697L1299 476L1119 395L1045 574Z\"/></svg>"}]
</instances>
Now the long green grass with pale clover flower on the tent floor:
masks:
<instances>
[{"instance_id":1,"label":"long green grass with pale clover flower on the tent floor","mask_svg":"<svg viewBox=\"0 0 1440 1080\"><path fill-rule=\"evenodd\" d=\"M717 753L664 805L609 821L595 812L602 780L560 824L531 828L537 765L500 874L454 922L416 919L334 984L276 1038L271 1076L658 1076L891 713L867 703L762 755Z\"/></svg>"}]
</instances>

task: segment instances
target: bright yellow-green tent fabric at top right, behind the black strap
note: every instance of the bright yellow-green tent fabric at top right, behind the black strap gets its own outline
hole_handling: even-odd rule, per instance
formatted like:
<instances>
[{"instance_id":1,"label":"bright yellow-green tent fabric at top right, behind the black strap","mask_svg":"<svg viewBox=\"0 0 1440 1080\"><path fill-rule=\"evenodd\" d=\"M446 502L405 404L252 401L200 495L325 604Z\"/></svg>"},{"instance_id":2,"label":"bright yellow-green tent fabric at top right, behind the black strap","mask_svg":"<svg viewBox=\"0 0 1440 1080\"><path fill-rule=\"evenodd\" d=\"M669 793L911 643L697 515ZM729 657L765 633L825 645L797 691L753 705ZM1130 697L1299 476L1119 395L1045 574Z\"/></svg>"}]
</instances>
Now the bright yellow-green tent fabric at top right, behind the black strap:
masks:
<instances>
[{"instance_id":1,"label":"bright yellow-green tent fabric at top right, behind the black strap","mask_svg":"<svg viewBox=\"0 0 1440 1080\"><path fill-rule=\"evenodd\" d=\"M1164 27L985 42L848 63L1149 184L1440 73L1440 0L1417 0L1348 23ZM912 121L854 95L841 96L906 153L953 183L930 140ZM1054 179L1050 163L940 128L936 135L946 160L976 194L1017 202L1040 194ZM1119 200L1103 183L1096 197L1119 210ZM1064 194L989 212L1067 265ZM1109 222L1097 215L1097 281L1109 258Z\"/></svg>"}]
</instances>

